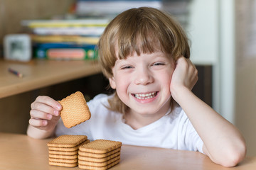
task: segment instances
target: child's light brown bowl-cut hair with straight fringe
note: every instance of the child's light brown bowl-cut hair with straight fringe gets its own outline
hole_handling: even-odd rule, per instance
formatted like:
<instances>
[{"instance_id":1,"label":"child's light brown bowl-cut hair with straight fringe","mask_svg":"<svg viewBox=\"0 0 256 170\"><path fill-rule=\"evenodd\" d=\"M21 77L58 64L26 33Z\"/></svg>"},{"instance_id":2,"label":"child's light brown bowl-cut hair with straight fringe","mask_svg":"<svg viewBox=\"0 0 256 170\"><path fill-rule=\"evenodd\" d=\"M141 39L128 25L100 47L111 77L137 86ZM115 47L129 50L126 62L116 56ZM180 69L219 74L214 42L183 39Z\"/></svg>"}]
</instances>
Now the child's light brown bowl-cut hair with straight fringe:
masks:
<instances>
[{"instance_id":1,"label":"child's light brown bowl-cut hair with straight fringe","mask_svg":"<svg viewBox=\"0 0 256 170\"><path fill-rule=\"evenodd\" d=\"M149 7L131 8L116 16L105 28L97 47L102 72L107 78L113 76L117 59L126 59L134 52L152 53L160 47L174 62L181 56L190 57L188 38L180 24L169 14ZM113 111L125 113L128 109L116 92L109 103Z\"/></svg>"}]
</instances>

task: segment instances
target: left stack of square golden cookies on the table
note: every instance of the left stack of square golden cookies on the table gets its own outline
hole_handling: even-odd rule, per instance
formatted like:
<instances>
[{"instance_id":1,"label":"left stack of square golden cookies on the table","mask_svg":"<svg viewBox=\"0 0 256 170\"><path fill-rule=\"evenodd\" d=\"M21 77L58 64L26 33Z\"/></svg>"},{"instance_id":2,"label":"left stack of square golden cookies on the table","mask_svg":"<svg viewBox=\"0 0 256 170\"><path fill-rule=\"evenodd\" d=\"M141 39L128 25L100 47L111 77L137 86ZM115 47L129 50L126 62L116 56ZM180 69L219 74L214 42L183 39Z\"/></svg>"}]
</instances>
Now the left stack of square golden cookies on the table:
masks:
<instances>
[{"instance_id":1,"label":"left stack of square golden cookies on the table","mask_svg":"<svg viewBox=\"0 0 256 170\"><path fill-rule=\"evenodd\" d=\"M62 135L48 142L49 164L55 166L78 166L80 145L90 142L85 135Z\"/></svg>"}]
</instances>

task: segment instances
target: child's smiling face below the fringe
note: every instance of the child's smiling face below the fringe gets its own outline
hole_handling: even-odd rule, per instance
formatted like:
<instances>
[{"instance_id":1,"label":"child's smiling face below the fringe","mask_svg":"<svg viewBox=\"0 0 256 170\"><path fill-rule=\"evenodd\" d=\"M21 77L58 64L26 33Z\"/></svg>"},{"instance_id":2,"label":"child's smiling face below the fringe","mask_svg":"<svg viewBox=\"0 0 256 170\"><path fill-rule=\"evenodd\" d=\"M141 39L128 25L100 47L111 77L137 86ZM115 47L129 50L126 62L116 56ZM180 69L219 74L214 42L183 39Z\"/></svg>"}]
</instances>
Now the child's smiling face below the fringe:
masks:
<instances>
[{"instance_id":1,"label":"child's smiling face below the fringe","mask_svg":"<svg viewBox=\"0 0 256 170\"><path fill-rule=\"evenodd\" d=\"M115 62L110 86L130 112L164 115L170 108L174 68L174 61L161 51L140 56L135 52L126 60Z\"/></svg>"}]
</instances>

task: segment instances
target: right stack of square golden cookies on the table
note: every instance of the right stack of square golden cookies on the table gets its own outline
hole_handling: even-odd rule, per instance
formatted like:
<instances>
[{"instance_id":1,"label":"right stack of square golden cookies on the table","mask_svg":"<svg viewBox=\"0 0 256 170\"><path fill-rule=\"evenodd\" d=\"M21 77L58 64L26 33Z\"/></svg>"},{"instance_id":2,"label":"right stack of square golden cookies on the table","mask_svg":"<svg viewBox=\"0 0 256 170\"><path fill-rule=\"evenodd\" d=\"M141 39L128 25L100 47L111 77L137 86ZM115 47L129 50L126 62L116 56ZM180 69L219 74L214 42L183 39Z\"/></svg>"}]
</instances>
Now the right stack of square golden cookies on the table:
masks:
<instances>
[{"instance_id":1,"label":"right stack of square golden cookies on the table","mask_svg":"<svg viewBox=\"0 0 256 170\"><path fill-rule=\"evenodd\" d=\"M95 140L83 144L78 152L80 169L109 169L120 161L122 142Z\"/></svg>"}]
</instances>

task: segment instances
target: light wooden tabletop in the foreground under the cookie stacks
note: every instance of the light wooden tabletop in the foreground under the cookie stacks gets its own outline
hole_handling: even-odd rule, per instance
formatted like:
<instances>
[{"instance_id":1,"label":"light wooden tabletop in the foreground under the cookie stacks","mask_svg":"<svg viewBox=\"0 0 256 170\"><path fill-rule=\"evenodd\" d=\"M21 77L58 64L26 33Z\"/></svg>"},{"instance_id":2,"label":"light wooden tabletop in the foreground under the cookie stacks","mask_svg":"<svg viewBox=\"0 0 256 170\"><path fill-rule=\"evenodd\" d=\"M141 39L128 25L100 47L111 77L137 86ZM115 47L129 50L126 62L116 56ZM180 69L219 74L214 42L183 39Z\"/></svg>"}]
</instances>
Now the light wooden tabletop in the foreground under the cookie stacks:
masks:
<instances>
[{"instance_id":1,"label":"light wooden tabletop in the foreground under the cookie stacks","mask_svg":"<svg viewBox=\"0 0 256 170\"><path fill-rule=\"evenodd\" d=\"M65 168L48 165L48 147L46 145L48 141L35 140L26 135L0 132L0 169L79 169L78 167ZM256 158L247 157L238 166L225 168L214 164L208 157L199 152L123 145L121 160L112 169L250 170L256 169Z\"/></svg>"}]
</instances>

